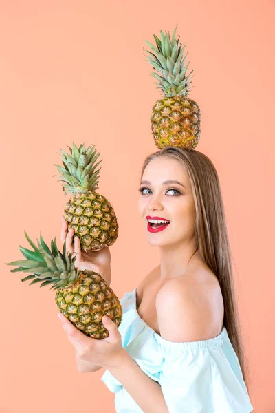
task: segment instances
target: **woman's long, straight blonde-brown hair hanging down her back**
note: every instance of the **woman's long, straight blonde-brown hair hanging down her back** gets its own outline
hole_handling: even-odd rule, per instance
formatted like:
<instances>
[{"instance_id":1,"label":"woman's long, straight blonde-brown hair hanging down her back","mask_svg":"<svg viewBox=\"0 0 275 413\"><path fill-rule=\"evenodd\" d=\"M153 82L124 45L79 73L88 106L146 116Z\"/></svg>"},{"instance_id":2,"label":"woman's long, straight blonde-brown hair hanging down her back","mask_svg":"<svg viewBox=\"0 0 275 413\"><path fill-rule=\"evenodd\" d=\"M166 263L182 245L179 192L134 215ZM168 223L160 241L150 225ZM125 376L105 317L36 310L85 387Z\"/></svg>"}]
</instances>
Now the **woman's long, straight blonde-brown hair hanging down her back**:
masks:
<instances>
[{"instance_id":1,"label":"woman's long, straight blonde-brown hair hanging down her back","mask_svg":"<svg viewBox=\"0 0 275 413\"><path fill-rule=\"evenodd\" d=\"M239 359L243 380L248 388L248 365L245 363L241 340L231 250L219 176L212 161L203 153L169 146L146 157L141 178L148 163L161 156L178 160L190 178L196 209L195 242L203 261L219 280L224 304L223 325L228 331L228 337Z\"/></svg>"}]
</instances>

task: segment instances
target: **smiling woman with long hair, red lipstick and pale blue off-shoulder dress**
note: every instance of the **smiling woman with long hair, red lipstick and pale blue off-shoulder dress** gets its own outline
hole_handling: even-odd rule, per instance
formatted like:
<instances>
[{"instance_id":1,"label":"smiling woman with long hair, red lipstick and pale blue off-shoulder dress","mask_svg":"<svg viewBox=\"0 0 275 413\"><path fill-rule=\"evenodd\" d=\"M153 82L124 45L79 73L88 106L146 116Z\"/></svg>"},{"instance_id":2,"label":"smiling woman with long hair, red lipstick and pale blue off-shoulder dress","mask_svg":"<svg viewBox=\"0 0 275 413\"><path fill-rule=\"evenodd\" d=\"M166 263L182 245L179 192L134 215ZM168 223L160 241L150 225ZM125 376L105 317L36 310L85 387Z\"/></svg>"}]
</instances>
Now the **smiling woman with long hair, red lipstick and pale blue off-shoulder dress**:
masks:
<instances>
[{"instance_id":1,"label":"smiling woman with long hair, red lipstick and pale blue off-shoulder dress","mask_svg":"<svg viewBox=\"0 0 275 413\"><path fill-rule=\"evenodd\" d=\"M144 161L139 190L142 224L160 264L120 299L120 326L104 323L108 346L88 346L94 355L76 351L78 370L107 369L101 379L119 413L252 412L214 165L199 151L165 147ZM63 220L61 238L79 268L111 282L109 248L85 254L73 236ZM75 340L82 335L74 333Z\"/></svg>"}]
</instances>

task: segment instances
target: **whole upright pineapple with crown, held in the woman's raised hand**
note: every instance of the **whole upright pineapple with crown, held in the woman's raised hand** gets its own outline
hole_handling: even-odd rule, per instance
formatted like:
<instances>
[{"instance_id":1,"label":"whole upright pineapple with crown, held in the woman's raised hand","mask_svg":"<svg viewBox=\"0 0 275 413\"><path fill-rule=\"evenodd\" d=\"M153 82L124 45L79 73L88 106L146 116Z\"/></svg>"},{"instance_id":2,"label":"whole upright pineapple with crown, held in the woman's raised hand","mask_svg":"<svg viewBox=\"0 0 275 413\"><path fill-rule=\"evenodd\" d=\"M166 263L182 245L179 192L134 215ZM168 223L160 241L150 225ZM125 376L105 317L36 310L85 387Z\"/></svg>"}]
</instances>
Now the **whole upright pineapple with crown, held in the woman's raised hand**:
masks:
<instances>
[{"instance_id":1,"label":"whole upright pineapple with crown, held in the woman's raised hand","mask_svg":"<svg viewBox=\"0 0 275 413\"><path fill-rule=\"evenodd\" d=\"M61 173L63 191L72 193L65 205L65 219L68 229L80 238L83 251L98 251L104 246L111 246L118 237L118 221L109 200L98 189L99 169L96 163L100 153L93 147L85 145L69 147L70 153L61 149L63 167L56 165Z\"/></svg>"}]
</instances>

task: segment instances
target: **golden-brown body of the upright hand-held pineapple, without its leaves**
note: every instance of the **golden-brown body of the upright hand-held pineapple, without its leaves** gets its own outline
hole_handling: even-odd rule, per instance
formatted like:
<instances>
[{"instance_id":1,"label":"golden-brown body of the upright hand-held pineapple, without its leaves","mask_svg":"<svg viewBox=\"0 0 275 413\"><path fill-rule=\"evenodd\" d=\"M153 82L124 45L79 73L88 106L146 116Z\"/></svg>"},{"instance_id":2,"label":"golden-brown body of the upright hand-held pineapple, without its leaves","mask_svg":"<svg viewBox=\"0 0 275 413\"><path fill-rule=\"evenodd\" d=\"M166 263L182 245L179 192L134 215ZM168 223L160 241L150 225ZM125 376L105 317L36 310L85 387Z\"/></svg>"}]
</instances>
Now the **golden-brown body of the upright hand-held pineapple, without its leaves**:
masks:
<instances>
[{"instance_id":1,"label":"golden-brown body of the upright hand-held pineapple, without its leaves","mask_svg":"<svg viewBox=\"0 0 275 413\"><path fill-rule=\"evenodd\" d=\"M65 205L68 229L74 228L81 250L99 251L111 246L118 237L118 220L109 200L100 193L87 191L72 195Z\"/></svg>"}]
</instances>

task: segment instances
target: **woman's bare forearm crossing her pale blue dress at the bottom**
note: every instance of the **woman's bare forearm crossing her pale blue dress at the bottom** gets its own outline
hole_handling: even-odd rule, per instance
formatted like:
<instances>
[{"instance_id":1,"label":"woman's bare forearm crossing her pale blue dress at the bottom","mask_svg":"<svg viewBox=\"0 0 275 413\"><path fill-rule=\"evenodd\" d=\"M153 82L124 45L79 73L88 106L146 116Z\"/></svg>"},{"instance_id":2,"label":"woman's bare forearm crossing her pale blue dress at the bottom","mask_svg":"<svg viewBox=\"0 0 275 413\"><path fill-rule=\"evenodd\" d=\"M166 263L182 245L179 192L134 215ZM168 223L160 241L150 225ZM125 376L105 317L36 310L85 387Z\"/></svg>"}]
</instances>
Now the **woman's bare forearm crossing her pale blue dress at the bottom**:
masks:
<instances>
[{"instance_id":1,"label":"woman's bare forearm crossing her pale blue dress at the bottom","mask_svg":"<svg viewBox=\"0 0 275 413\"><path fill-rule=\"evenodd\" d=\"M107 370L123 385L144 413L169 413L160 385L141 370L125 349Z\"/></svg>"}]
</instances>

